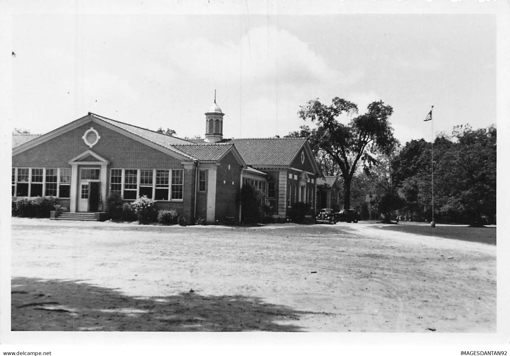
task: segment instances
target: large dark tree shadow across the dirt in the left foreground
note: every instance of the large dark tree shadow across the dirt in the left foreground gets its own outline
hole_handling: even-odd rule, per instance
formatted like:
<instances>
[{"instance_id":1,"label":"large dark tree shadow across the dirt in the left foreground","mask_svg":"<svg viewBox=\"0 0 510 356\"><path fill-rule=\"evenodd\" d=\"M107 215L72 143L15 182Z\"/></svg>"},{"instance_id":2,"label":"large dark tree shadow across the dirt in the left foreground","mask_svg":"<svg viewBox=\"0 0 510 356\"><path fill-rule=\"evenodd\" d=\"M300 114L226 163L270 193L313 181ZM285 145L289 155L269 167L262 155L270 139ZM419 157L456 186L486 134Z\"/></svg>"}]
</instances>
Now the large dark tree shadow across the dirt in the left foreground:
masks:
<instances>
[{"instance_id":1,"label":"large dark tree shadow across the dirt in the left foreground","mask_svg":"<svg viewBox=\"0 0 510 356\"><path fill-rule=\"evenodd\" d=\"M11 329L45 331L298 332L300 315L243 295L130 297L83 281L12 279Z\"/></svg>"}]
</instances>

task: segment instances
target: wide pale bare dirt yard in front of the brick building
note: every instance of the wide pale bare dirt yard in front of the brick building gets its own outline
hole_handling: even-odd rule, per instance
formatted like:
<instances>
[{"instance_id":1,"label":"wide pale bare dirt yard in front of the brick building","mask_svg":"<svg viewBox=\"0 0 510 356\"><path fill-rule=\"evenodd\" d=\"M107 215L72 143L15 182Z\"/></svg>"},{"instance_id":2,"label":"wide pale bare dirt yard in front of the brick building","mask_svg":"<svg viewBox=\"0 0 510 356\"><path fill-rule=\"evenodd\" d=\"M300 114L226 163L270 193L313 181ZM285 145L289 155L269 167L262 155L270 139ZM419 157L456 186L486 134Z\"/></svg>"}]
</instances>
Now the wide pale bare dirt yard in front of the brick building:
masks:
<instances>
[{"instance_id":1,"label":"wide pale bare dirt yard in front of the brick building","mask_svg":"<svg viewBox=\"0 0 510 356\"><path fill-rule=\"evenodd\" d=\"M12 330L496 332L496 246L363 222L13 218L11 296Z\"/></svg>"}]
</instances>

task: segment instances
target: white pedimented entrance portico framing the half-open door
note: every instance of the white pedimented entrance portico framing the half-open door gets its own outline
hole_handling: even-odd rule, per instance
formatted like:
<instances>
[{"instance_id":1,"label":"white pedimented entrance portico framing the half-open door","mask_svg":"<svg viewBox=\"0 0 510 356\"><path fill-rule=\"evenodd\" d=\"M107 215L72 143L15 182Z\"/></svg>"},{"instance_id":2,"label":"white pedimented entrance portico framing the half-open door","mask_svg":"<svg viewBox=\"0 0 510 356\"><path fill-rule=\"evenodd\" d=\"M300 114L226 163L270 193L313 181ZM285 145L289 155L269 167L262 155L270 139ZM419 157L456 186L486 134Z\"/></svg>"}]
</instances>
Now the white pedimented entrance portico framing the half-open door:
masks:
<instances>
[{"instance_id":1,"label":"white pedimented entrance portico framing the half-open door","mask_svg":"<svg viewBox=\"0 0 510 356\"><path fill-rule=\"evenodd\" d=\"M70 212L105 211L110 162L89 149L68 163L71 166Z\"/></svg>"}]
</instances>

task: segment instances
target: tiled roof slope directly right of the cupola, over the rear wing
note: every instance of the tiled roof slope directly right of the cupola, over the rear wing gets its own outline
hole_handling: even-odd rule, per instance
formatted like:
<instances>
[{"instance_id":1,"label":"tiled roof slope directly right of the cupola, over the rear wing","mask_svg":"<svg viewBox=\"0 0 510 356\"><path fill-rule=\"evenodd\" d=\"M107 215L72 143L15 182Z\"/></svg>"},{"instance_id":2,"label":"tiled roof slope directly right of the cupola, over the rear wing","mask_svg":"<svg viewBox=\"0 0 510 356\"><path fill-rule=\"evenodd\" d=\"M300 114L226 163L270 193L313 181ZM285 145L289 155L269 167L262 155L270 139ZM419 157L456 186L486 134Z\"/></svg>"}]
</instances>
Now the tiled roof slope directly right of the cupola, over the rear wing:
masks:
<instances>
[{"instance_id":1,"label":"tiled roof slope directly right of the cupola, over the rear wing","mask_svg":"<svg viewBox=\"0 0 510 356\"><path fill-rule=\"evenodd\" d=\"M234 143L244 162L250 166L286 166L292 163L305 138L240 138Z\"/></svg>"}]
</instances>

